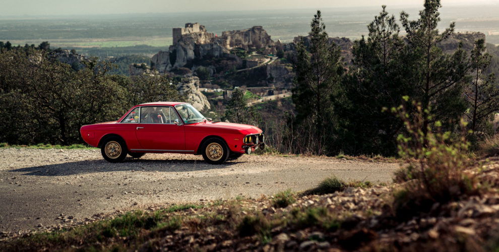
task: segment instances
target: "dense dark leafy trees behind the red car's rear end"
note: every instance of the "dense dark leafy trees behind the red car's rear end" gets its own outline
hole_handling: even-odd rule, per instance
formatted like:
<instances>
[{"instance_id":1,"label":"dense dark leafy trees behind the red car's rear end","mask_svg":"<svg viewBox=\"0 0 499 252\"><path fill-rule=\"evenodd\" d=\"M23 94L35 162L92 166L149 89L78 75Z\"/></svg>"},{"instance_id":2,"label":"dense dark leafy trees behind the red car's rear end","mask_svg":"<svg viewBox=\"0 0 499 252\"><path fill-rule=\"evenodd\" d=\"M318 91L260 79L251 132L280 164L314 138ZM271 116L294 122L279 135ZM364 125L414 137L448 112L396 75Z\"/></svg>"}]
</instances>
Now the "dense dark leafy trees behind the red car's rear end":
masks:
<instances>
[{"instance_id":1,"label":"dense dark leafy trees behind the red car's rear end","mask_svg":"<svg viewBox=\"0 0 499 252\"><path fill-rule=\"evenodd\" d=\"M2 51L0 113L9 123L0 125L0 142L82 143L84 124L116 120L139 102L182 99L166 77L111 75L114 66L96 57L82 64L75 71L46 50Z\"/></svg>"}]
</instances>

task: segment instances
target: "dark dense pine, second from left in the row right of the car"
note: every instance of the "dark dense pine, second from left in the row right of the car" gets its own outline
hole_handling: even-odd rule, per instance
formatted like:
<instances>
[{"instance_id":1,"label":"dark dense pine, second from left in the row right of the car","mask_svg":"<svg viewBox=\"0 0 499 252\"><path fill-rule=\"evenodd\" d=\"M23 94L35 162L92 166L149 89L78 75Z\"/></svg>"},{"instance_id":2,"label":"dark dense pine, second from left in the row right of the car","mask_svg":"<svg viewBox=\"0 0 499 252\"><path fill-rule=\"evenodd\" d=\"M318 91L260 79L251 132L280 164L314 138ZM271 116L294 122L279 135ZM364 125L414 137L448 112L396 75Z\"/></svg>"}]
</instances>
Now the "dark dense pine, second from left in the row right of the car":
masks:
<instances>
[{"instance_id":1,"label":"dark dense pine, second from left in the row right of the car","mask_svg":"<svg viewBox=\"0 0 499 252\"><path fill-rule=\"evenodd\" d=\"M343 82L342 98L335 100L338 137L347 154L394 155L402 122L382 109L400 105L404 95L413 96L414 86L406 77L409 68L399 26L386 6L367 28L367 39L353 44L353 66Z\"/></svg>"}]
</instances>

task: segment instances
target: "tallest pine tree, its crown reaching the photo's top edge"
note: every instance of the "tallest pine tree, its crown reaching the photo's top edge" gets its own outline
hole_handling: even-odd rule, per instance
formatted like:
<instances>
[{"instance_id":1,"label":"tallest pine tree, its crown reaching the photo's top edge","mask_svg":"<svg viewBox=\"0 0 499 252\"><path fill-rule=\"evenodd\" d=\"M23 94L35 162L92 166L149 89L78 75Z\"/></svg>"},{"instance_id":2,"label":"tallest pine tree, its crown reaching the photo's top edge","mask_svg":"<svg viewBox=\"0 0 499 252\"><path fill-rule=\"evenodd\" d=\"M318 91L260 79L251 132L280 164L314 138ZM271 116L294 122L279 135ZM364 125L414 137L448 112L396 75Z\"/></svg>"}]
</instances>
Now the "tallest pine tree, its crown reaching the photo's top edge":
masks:
<instances>
[{"instance_id":1,"label":"tallest pine tree, its crown reaching the photo's top edge","mask_svg":"<svg viewBox=\"0 0 499 252\"><path fill-rule=\"evenodd\" d=\"M409 15L400 14L407 32L409 50L414 60L410 69L414 70L411 82L417 88L415 100L423 108L423 134L426 135L430 123L440 120L444 123L456 120L466 109L462 97L462 82L467 75L469 62L466 52L459 48L453 54L444 54L438 44L454 32L455 23L439 33L441 21L438 9L440 0L425 0L424 10L419 19L409 21ZM430 116L434 115L434 117Z\"/></svg>"}]
</instances>

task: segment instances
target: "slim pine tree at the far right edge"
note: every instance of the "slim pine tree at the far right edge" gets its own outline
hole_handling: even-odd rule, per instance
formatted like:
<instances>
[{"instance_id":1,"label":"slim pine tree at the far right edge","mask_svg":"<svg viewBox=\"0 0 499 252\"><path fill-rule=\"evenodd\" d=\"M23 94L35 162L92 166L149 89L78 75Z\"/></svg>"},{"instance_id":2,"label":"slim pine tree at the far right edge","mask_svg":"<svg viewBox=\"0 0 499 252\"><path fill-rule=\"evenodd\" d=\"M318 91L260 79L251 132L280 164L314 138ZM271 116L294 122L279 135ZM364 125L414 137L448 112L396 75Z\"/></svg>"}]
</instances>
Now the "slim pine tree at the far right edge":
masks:
<instances>
[{"instance_id":1,"label":"slim pine tree at the far right edge","mask_svg":"<svg viewBox=\"0 0 499 252\"><path fill-rule=\"evenodd\" d=\"M499 86L494 74L485 75L491 55L485 52L485 41L479 39L471 51L471 73L473 78L466 85L465 94L469 109L464 113L470 120L473 134L483 132L484 124L493 119L499 110Z\"/></svg>"}]
</instances>

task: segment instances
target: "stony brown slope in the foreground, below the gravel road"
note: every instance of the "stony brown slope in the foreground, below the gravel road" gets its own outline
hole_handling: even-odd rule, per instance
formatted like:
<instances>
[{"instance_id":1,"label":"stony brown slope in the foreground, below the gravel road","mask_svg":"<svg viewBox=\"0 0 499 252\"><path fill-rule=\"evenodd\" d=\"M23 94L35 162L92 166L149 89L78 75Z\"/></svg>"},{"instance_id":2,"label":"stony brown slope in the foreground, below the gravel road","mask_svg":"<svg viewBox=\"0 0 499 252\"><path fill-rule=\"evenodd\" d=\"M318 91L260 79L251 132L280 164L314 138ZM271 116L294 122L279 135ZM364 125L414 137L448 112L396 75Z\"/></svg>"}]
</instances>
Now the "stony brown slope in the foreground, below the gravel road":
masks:
<instances>
[{"instance_id":1,"label":"stony brown slope in the foreground, below the gravel road","mask_svg":"<svg viewBox=\"0 0 499 252\"><path fill-rule=\"evenodd\" d=\"M489 185L496 188L499 165L487 166L479 176L482 181L494 181ZM442 205L435 203L429 212L404 220L395 217L392 206L394 192L400 187L400 184L348 187L344 192L299 197L285 208L275 207L273 199L244 201L241 204L244 215L259 216L267 223L282 216L291 221L270 224L267 238L258 232L245 237L240 228L239 234L234 235L216 227L193 232L192 227L184 226L148 240L141 248L142 251L497 251L499 193L493 187L480 197L465 197ZM199 216L210 211L234 214L226 206L190 210L184 214ZM305 213L305 220L300 219L299 213ZM324 221L330 219L325 216L334 216L339 223L337 228L326 228ZM298 220L293 222L293 218ZM317 222L307 222L314 218Z\"/></svg>"}]
</instances>

